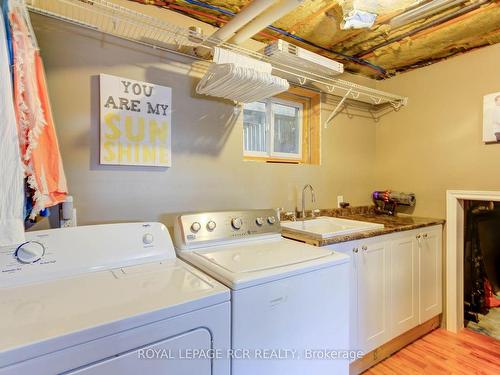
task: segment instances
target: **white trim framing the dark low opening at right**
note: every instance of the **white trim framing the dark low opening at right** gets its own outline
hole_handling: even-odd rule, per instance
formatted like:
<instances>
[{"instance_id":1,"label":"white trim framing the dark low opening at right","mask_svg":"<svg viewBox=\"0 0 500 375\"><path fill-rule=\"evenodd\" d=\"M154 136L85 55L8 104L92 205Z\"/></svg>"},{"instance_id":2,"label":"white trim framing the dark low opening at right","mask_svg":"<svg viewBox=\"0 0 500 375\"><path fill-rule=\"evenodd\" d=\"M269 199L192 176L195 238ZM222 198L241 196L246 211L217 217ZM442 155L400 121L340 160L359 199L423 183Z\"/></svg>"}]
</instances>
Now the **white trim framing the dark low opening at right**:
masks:
<instances>
[{"instance_id":1,"label":"white trim framing the dark low opening at right","mask_svg":"<svg viewBox=\"0 0 500 375\"><path fill-rule=\"evenodd\" d=\"M500 202L500 192L446 192L446 329L452 332L464 320L464 200Z\"/></svg>"}]
</instances>

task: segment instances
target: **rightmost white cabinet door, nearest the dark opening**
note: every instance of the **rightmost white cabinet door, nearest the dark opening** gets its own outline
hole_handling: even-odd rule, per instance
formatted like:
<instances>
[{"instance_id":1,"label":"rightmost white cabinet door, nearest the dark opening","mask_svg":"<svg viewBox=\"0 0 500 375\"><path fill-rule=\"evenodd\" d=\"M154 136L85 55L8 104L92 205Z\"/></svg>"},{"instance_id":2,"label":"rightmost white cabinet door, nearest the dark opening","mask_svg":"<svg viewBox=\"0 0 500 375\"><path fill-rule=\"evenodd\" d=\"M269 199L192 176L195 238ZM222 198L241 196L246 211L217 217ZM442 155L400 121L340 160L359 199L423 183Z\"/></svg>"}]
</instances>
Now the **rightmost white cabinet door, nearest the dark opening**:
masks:
<instances>
[{"instance_id":1,"label":"rightmost white cabinet door, nearest the dark opening","mask_svg":"<svg viewBox=\"0 0 500 375\"><path fill-rule=\"evenodd\" d=\"M420 252L420 323L443 311L442 229L422 231Z\"/></svg>"}]
</instances>

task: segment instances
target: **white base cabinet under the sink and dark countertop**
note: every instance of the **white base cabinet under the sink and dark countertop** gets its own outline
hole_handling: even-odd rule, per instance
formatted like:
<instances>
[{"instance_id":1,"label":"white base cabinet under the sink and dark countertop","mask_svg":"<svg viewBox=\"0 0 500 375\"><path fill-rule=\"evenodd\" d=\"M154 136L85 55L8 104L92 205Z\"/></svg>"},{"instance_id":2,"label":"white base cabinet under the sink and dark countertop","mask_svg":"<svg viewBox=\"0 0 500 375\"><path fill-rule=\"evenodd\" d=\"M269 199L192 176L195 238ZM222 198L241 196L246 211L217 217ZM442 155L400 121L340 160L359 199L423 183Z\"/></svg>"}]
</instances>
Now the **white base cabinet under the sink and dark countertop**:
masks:
<instances>
[{"instance_id":1,"label":"white base cabinet under the sink and dark countertop","mask_svg":"<svg viewBox=\"0 0 500 375\"><path fill-rule=\"evenodd\" d=\"M442 312L442 226L329 246L351 257L350 347L368 353Z\"/></svg>"}]
</instances>

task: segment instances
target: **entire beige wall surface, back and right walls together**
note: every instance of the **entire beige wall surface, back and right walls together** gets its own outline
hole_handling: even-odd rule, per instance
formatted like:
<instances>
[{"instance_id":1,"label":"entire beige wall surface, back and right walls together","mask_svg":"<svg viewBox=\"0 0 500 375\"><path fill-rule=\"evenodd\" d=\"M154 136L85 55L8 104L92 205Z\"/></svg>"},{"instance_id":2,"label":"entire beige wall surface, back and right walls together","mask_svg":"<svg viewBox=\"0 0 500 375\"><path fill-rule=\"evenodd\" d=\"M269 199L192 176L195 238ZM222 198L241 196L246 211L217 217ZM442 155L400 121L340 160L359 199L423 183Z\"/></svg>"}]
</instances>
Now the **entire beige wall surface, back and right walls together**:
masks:
<instances>
[{"instance_id":1,"label":"entire beige wall surface, back and right walls together","mask_svg":"<svg viewBox=\"0 0 500 375\"><path fill-rule=\"evenodd\" d=\"M179 14L126 3L211 31ZM414 214L444 217L447 189L500 189L500 145L481 141L482 96L500 91L500 45L377 84L354 78L407 95L409 106L379 124L338 116L322 129L321 166L276 165L242 161L241 119L230 103L193 97L200 72L192 60L41 16L33 23L81 224L171 224L174 214L191 210L292 210L306 183L316 189L317 207L334 207L339 194L353 205L368 204L372 190L390 188L417 194ZM173 88L172 168L98 164L100 73ZM323 106L323 119L331 110Z\"/></svg>"}]
</instances>

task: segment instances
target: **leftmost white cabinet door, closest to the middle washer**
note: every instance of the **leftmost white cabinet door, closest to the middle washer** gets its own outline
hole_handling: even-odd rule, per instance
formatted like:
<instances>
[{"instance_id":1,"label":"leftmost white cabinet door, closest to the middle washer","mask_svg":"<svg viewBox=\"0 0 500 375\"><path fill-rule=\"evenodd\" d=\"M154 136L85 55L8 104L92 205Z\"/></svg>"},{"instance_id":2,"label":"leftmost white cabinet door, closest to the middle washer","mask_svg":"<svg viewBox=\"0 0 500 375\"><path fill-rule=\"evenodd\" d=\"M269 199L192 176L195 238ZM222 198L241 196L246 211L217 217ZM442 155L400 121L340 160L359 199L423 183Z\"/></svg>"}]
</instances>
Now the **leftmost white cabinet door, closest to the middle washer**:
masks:
<instances>
[{"instance_id":1,"label":"leftmost white cabinet door, closest to the middle washer","mask_svg":"<svg viewBox=\"0 0 500 375\"><path fill-rule=\"evenodd\" d=\"M358 347L365 353L389 338L390 245L366 241L356 256L358 275Z\"/></svg>"}]
</instances>

